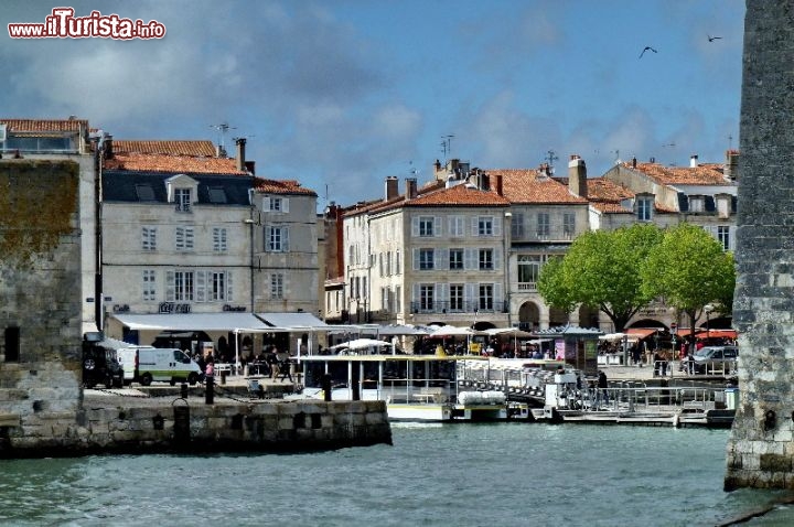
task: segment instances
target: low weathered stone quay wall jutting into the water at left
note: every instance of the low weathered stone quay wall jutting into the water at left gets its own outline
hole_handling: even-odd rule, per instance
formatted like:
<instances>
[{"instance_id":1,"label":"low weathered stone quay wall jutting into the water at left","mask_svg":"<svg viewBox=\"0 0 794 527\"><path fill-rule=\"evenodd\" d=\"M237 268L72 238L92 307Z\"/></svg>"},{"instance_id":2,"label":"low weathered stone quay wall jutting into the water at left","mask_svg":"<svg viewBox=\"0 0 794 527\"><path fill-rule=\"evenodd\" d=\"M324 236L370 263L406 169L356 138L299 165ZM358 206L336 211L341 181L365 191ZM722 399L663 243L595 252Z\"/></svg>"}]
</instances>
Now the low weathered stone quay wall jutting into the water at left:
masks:
<instances>
[{"instance_id":1,"label":"low weathered stone quay wall jutting into the water at left","mask_svg":"<svg viewBox=\"0 0 794 527\"><path fill-rule=\"evenodd\" d=\"M0 422L0 458L160 452L285 452L391 444L383 401L196 404L176 398L86 400L24 428Z\"/></svg>"}]
</instances>

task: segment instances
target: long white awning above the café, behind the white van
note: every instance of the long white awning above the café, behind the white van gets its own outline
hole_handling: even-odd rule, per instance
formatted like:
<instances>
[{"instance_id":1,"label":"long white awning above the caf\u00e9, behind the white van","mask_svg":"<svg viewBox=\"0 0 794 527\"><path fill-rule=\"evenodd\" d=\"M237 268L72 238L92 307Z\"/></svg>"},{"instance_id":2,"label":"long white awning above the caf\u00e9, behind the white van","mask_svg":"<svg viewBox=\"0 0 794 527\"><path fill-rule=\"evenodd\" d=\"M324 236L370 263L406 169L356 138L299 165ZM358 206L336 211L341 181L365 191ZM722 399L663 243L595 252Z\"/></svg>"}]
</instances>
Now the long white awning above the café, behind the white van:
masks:
<instances>
[{"instance_id":1,"label":"long white awning above the caf\u00e9, behind the white van","mask_svg":"<svg viewBox=\"0 0 794 527\"><path fill-rule=\"evenodd\" d=\"M250 313L111 314L130 330L277 332Z\"/></svg>"}]
</instances>

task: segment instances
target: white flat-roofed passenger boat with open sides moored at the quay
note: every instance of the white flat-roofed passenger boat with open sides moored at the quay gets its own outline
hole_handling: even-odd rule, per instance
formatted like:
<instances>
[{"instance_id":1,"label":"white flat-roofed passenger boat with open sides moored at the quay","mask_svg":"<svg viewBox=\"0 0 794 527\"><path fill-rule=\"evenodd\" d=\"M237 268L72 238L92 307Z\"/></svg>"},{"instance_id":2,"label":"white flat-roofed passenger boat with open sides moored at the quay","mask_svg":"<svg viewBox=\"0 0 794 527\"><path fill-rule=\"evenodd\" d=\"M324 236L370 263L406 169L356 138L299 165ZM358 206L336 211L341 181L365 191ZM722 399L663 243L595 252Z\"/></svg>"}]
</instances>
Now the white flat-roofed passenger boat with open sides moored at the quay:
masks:
<instances>
[{"instance_id":1,"label":"white flat-roofed passenger boat with open sides moored at the quay","mask_svg":"<svg viewBox=\"0 0 794 527\"><path fill-rule=\"evenodd\" d=\"M493 421L507 419L505 394L464 387L460 372L478 356L308 355L299 358L303 396L332 400L383 400L389 420Z\"/></svg>"}]
</instances>

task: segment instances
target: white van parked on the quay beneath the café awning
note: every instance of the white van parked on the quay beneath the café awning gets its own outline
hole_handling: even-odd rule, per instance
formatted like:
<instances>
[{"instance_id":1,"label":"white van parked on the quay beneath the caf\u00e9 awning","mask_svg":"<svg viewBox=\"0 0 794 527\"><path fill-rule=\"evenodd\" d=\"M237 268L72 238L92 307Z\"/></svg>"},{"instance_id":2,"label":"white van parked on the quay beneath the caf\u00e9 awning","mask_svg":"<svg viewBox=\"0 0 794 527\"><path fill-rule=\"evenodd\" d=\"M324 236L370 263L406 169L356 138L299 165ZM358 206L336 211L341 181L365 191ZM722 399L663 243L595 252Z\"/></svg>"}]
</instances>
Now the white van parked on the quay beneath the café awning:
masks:
<instances>
[{"instance_id":1,"label":"white van parked on the quay beneath the caf\u00e9 awning","mask_svg":"<svg viewBox=\"0 0 794 527\"><path fill-rule=\"evenodd\" d=\"M201 368L182 349L135 346L118 349L118 362L125 370L125 383L136 380L149 386L152 380L187 381L191 386L201 378Z\"/></svg>"}]
</instances>

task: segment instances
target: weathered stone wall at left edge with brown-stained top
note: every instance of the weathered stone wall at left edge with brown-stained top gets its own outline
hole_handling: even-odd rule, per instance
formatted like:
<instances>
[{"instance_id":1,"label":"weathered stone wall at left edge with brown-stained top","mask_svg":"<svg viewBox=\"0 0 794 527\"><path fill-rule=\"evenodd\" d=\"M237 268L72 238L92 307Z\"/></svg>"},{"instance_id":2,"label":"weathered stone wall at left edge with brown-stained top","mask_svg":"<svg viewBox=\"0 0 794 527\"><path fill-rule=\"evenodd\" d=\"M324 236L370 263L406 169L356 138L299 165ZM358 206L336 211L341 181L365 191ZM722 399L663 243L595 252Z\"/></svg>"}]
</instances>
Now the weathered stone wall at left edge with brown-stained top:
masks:
<instances>
[{"instance_id":1,"label":"weathered stone wall at left edge with brown-stained top","mask_svg":"<svg viewBox=\"0 0 794 527\"><path fill-rule=\"evenodd\" d=\"M56 440L81 390L79 165L2 160L0 450Z\"/></svg>"}]
</instances>

